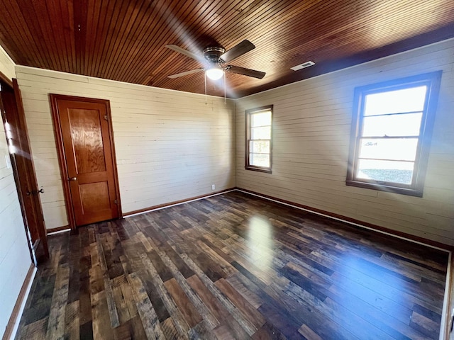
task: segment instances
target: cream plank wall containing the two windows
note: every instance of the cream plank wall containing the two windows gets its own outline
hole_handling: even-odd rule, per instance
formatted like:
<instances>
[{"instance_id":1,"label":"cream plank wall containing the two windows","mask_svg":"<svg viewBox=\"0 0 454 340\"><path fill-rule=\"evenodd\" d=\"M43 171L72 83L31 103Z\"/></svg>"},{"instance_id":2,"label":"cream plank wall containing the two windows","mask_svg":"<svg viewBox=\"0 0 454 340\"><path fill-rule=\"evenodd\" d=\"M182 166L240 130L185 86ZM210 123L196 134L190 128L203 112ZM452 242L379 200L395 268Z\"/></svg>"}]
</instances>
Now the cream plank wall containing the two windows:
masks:
<instances>
[{"instance_id":1,"label":"cream plank wall containing the two windows","mask_svg":"<svg viewBox=\"0 0 454 340\"><path fill-rule=\"evenodd\" d=\"M240 98L237 186L454 245L454 40ZM443 70L423 198L345 186L355 86ZM304 70L299 71L304 72ZM244 169L245 110L274 105L272 174Z\"/></svg>"}]
</instances>

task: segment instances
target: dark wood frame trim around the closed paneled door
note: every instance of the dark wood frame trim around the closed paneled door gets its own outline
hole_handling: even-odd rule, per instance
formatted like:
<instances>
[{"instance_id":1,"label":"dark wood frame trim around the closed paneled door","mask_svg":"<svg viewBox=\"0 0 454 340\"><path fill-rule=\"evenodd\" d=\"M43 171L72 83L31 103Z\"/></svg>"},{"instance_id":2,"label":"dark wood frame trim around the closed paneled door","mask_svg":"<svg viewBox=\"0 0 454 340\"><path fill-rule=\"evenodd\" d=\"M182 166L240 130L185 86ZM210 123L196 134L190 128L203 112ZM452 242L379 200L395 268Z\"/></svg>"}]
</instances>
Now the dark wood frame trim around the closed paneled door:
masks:
<instances>
[{"instance_id":1,"label":"dark wood frame trim around the closed paneled door","mask_svg":"<svg viewBox=\"0 0 454 340\"><path fill-rule=\"evenodd\" d=\"M112 154L112 165L114 167L114 181L115 181L115 193L117 200L117 210L118 218L121 218L121 199L120 199L120 186L118 185L118 171L116 169L116 153L115 153L115 141L114 141L114 130L112 128L112 115L111 115L111 106L109 99L97 99L97 98L87 98L87 97L78 97L78 96L66 96L63 94L49 94L50 105L52 108L52 123L54 125L55 132L55 142L57 144L58 152L58 164L60 166L60 176L62 177L62 186L63 192L65 194L65 205L66 212L68 217L69 227L74 230L76 229L76 217L74 215L74 208L72 205L72 197L70 191L70 182L67 181L67 162L65 156L65 149L63 147L63 135L62 135L62 126L60 123L60 115L58 111L57 101L59 99L64 101L84 101L89 103L100 103L106 106L107 113L107 122L109 123L109 139L111 141L111 154Z\"/></svg>"}]
</instances>

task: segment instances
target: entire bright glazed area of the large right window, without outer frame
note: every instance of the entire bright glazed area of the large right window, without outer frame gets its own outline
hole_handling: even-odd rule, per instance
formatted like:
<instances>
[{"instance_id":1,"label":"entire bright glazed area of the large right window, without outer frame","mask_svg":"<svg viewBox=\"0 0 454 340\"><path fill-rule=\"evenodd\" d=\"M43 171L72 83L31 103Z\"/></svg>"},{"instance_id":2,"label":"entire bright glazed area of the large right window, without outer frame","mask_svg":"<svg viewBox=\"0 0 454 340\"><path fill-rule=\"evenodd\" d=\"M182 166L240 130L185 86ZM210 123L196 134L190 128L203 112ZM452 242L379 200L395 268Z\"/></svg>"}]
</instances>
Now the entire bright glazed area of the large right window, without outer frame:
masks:
<instances>
[{"instance_id":1,"label":"entire bright glazed area of the large right window, without outer frame","mask_svg":"<svg viewBox=\"0 0 454 340\"><path fill-rule=\"evenodd\" d=\"M416 86L365 96L358 178L411 183L426 91Z\"/></svg>"}]
</instances>

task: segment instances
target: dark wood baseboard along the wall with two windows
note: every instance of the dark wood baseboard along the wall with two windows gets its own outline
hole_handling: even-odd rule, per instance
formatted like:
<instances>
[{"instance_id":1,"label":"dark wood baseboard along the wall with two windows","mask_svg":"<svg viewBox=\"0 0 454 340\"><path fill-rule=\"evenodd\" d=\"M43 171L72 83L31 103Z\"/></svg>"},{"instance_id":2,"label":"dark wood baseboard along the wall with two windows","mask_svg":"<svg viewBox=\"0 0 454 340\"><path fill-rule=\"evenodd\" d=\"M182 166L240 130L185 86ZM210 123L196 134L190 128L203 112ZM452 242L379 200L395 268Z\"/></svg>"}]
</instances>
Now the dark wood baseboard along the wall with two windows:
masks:
<instances>
[{"instance_id":1,"label":"dark wood baseboard along the wall with two windows","mask_svg":"<svg viewBox=\"0 0 454 340\"><path fill-rule=\"evenodd\" d=\"M321 210L321 209L317 209L317 208L312 208L307 205L302 205L299 203L294 203L290 200L282 200L281 198L276 198L273 196L265 195L263 193L256 193L255 191L250 191L248 189L236 188L236 190L242 191L243 193L250 193L251 195L265 198L267 200L272 200L277 203L282 203L284 205L290 205L294 208L306 210L307 212L312 212L317 215L322 215L322 216L325 216L328 218L332 218L334 220L345 222L350 225L355 225L356 227L372 229L372 230L375 230L376 232L380 232L382 234L389 234L390 236L393 236L393 237L398 237L400 239L406 239L407 241L418 243L423 246L431 246L432 248L440 249L443 251L454 251L454 246L450 246L449 244L443 244L441 242L432 241L431 239L424 239L423 237L418 237L418 236L415 236L412 234L406 234L405 232L399 232L397 230L388 229L386 227L380 227L380 225L373 225L372 223L369 223L369 222L355 220L354 218L351 218L351 217L338 215L333 212L329 212L329 211Z\"/></svg>"}]
</instances>

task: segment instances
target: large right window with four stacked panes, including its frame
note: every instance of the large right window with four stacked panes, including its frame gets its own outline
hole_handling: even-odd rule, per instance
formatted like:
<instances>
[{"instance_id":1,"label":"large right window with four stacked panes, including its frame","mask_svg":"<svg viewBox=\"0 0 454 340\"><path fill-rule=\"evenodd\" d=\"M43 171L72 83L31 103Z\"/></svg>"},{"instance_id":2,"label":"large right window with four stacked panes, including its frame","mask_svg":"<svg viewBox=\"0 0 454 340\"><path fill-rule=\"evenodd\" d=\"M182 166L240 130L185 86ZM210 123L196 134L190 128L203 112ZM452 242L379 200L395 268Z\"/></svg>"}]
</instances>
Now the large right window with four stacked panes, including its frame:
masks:
<instances>
[{"instance_id":1,"label":"large right window with four stacked panes, including its frame","mask_svg":"<svg viewBox=\"0 0 454 340\"><path fill-rule=\"evenodd\" d=\"M347 185L422 197L441 71L355 89Z\"/></svg>"}]
</instances>

